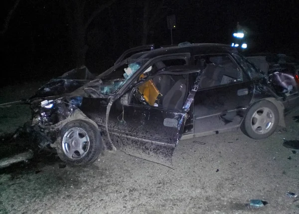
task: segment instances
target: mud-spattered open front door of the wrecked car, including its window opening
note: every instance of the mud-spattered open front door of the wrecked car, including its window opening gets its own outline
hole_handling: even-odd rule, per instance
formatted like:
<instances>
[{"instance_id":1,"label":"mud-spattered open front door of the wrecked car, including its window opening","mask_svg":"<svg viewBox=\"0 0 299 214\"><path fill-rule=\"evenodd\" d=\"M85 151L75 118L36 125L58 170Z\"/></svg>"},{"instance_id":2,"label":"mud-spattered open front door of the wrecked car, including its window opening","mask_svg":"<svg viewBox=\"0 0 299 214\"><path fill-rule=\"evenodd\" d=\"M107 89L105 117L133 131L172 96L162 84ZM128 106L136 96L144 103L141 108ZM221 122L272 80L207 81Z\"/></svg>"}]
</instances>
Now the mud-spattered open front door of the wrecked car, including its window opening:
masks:
<instances>
[{"instance_id":1,"label":"mud-spattered open front door of the wrecked car, including its window opening","mask_svg":"<svg viewBox=\"0 0 299 214\"><path fill-rule=\"evenodd\" d=\"M115 146L126 154L172 167L172 155L197 91L198 73L166 69L116 100L108 122Z\"/></svg>"}]
</instances>

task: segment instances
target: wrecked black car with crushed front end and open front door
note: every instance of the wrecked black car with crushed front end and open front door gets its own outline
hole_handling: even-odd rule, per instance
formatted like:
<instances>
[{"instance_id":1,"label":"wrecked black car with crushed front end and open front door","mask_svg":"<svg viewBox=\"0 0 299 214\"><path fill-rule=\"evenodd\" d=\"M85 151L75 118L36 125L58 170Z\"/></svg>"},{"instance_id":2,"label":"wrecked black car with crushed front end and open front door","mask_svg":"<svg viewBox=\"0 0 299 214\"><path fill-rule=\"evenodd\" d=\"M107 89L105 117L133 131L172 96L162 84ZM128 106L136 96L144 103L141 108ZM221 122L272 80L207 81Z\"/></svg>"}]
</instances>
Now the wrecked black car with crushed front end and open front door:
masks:
<instances>
[{"instance_id":1,"label":"wrecked black car with crushed front end and open front door","mask_svg":"<svg viewBox=\"0 0 299 214\"><path fill-rule=\"evenodd\" d=\"M269 137L299 99L298 73L283 96L229 45L133 51L72 92L29 100L40 147L56 149L72 165L92 163L105 149L164 164L180 139L238 128L255 139Z\"/></svg>"}]
</instances>

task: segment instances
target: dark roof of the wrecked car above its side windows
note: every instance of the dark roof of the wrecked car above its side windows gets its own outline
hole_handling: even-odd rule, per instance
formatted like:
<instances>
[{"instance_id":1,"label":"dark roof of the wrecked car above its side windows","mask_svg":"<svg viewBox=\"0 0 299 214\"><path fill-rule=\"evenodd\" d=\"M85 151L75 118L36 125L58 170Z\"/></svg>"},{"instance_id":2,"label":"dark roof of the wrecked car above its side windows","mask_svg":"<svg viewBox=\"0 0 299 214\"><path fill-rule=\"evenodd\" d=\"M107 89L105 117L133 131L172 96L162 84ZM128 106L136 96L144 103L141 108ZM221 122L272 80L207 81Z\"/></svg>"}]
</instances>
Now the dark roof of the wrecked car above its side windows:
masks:
<instances>
[{"instance_id":1,"label":"dark roof of the wrecked car above its side windows","mask_svg":"<svg viewBox=\"0 0 299 214\"><path fill-rule=\"evenodd\" d=\"M236 48L230 45L217 43L195 43L183 46L171 46L146 51L141 58L154 58L166 54L190 53L191 55L211 54L211 53L238 53Z\"/></svg>"}]
</instances>

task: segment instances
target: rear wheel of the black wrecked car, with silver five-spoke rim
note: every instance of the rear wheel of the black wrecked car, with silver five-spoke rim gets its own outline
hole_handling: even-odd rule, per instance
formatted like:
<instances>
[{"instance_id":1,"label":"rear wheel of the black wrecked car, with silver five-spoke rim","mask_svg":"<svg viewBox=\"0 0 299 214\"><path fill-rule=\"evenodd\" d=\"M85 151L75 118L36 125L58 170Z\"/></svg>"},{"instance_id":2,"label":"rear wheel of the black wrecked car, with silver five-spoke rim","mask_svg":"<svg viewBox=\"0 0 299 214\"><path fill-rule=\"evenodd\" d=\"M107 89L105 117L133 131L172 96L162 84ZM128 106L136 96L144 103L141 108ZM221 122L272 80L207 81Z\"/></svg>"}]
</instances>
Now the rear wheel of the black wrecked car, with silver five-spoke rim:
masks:
<instances>
[{"instance_id":1,"label":"rear wheel of the black wrecked car, with silver five-spoke rim","mask_svg":"<svg viewBox=\"0 0 299 214\"><path fill-rule=\"evenodd\" d=\"M279 123L279 111L269 101L261 101L249 108L243 132L253 139L264 139L272 135Z\"/></svg>"}]
</instances>

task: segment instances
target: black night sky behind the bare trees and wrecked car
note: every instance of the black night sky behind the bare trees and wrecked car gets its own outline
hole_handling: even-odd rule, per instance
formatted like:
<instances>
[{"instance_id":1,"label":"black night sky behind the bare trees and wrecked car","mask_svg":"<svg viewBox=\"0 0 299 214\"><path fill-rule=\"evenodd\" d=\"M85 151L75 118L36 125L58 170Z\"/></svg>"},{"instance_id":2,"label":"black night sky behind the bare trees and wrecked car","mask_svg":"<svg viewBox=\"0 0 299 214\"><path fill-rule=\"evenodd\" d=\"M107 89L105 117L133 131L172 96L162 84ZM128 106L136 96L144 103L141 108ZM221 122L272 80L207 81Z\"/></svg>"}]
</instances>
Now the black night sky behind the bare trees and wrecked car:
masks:
<instances>
[{"instance_id":1,"label":"black night sky behind the bare trees and wrecked car","mask_svg":"<svg viewBox=\"0 0 299 214\"><path fill-rule=\"evenodd\" d=\"M14 0L1 5L1 30ZM67 1L67 0L66 0ZM74 3L77 0L74 0ZM79 0L80 1L80 0ZM102 2L103 1L103 2ZM73 2L70 1L69 2ZM105 0L85 3L85 19ZM149 19L160 1L149 3ZM70 3L68 4L70 5ZM70 39L68 11L63 0L20 0L1 36L2 86L19 81L47 80L76 66ZM144 1L116 0L96 16L86 30L86 65L101 73L113 65L123 51L142 44ZM173 42L231 43L237 21L250 30L251 52L279 52L299 58L299 8L295 0L165 0L148 42L170 44L166 15L175 14Z\"/></svg>"}]
</instances>

